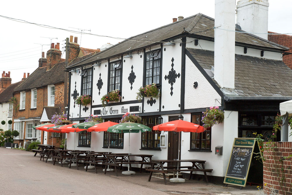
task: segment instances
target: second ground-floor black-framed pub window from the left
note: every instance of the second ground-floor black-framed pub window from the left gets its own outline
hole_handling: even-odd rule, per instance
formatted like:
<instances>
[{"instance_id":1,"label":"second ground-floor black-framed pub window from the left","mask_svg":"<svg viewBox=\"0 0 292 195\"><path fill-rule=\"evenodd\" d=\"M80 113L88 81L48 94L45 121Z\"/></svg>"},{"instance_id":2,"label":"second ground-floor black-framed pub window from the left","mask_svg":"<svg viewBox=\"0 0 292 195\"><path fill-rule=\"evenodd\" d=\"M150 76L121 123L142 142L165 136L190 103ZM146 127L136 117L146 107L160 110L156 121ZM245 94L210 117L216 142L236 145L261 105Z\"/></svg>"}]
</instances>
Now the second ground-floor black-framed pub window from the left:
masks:
<instances>
[{"instance_id":1,"label":"second ground-floor black-framed pub window from the left","mask_svg":"<svg viewBox=\"0 0 292 195\"><path fill-rule=\"evenodd\" d=\"M107 121L119 123L120 119L107 119ZM110 143L110 144L109 144ZM108 145L109 144L109 145ZM124 133L103 132L103 147L124 148Z\"/></svg>"}]
</instances>

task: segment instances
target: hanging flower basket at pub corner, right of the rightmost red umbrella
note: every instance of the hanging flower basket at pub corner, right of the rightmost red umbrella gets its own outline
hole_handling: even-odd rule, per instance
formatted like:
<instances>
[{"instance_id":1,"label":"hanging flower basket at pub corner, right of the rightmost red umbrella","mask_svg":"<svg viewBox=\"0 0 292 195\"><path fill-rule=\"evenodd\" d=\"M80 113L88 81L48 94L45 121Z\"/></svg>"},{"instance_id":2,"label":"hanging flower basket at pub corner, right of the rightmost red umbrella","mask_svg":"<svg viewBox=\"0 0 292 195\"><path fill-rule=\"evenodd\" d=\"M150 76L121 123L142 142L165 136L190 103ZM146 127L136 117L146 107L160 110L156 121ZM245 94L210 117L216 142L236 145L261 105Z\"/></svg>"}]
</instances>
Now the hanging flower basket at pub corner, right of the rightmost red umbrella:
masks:
<instances>
[{"instance_id":1,"label":"hanging flower basket at pub corner, right of the rightmost red umbrella","mask_svg":"<svg viewBox=\"0 0 292 195\"><path fill-rule=\"evenodd\" d=\"M213 127L214 124L220 124L224 121L224 110L220 110L218 106L210 107L203 112L203 127Z\"/></svg>"}]
</instances>

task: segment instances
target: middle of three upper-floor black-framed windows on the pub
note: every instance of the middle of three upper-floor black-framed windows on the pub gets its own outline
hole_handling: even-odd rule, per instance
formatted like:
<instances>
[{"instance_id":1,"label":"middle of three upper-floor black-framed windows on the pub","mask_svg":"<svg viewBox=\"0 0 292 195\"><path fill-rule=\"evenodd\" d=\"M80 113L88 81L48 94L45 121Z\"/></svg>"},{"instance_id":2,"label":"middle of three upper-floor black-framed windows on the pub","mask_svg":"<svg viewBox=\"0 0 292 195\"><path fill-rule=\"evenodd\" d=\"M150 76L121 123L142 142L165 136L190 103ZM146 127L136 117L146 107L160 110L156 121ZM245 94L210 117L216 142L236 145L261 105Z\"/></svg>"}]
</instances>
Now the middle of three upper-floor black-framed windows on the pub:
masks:
<instances>
[{"instance_id":1,"label":"middle of three upper-floor black-framed windows on the pub","mask_svg":"<svg viewBox=\"0 0 292 195\"><path fill-rule=\"evenodd\" d=\"M109 92L114 90L121 91L121 60L109 63Z\"/></svg>"}]
</instances>

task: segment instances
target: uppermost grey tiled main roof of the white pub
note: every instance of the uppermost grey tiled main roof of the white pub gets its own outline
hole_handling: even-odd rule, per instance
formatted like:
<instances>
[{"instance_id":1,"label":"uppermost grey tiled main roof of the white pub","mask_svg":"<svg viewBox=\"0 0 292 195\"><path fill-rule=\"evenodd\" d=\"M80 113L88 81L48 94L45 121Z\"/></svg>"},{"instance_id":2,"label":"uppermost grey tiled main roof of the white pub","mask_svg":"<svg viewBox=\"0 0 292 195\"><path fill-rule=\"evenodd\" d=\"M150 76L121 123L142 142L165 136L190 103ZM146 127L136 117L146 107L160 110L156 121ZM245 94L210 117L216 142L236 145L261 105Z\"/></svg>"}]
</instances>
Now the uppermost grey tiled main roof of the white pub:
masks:
<instances>
[{"instance_id":1,"label":"uppermost grey tiled main roof of the white pub","mask_svg":"<svg viewBox=\"0 0 292 195\"><path fill-rule=\"evenodd\" d=\"M96 61L97 59L105 59L114 55L129 53L134 50L145 48L148 45L159 43L160 41L164 41L181 35L182 33L195 34L196 36L204 36L210 39L214 39L213 27L213 18L198 13L197 15L187 17L183 20L179 20L177 22L173 22L171 24L159 27L157 29L153 29L145 33L130 37L128 39L131 40L126 39L106 50L97 53L96 55L93 55L88 59L83 60L82 62L72 64L71 66L68 66L68 68L80 66L83 64L89 64ZM252 34L235 33L235 42L256 45L263 48L272 48L279 50L287 49L286 47L283 47L281 45L270 43L263 38L257 38Z\"/></svg>"}]
</instances>

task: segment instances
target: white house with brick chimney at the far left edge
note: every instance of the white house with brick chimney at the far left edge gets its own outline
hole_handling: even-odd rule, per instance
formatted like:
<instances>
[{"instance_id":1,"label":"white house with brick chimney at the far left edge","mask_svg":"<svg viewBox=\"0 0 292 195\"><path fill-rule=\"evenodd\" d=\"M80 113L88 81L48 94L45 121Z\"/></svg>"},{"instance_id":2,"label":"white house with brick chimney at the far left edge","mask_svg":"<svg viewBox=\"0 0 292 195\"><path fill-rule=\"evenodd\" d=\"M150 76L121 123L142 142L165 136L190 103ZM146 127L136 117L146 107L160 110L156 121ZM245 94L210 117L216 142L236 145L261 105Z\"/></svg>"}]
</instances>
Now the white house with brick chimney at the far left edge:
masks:
<instances>
[{"instance_id":1,"label":"white house with brick chimney at the far left edge","mask_svg":"<svg viewBox=\"0 0 292 195\"><path fill-rule=\"evenodd\" d=\"M12 83L10 78L10 71L5 73L3 71L2 78L0 78L0 86L1 86L1 93L0 93L0 121L5 121L5 124L0 124L0 129L12 130L12 124L8 124L9 120L13 118L13 103L10 103L9 100L13 96L13 90L17 87L23 80Z\"/></svg>"}]
</instances>

